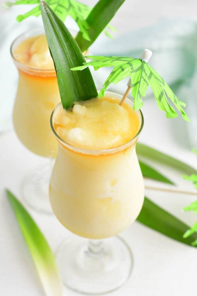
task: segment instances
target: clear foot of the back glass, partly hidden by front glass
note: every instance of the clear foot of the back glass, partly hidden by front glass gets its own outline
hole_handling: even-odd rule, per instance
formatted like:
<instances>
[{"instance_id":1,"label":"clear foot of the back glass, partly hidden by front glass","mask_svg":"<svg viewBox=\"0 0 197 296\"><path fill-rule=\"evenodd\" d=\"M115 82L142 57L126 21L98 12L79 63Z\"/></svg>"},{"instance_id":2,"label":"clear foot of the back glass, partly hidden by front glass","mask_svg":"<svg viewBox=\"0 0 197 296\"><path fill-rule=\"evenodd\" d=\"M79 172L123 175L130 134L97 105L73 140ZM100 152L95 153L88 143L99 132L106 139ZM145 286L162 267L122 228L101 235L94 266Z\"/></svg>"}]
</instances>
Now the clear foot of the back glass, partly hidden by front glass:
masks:
<instances>
[{"instance_id":1,"label":"clear foot of the back glass, partly hidden by front glass","mask_svg":"<svg viewBox=\"0 0 197 296\"><path fill-rule=\"evenodd\" d=\"M25 203L32 209L45 213L53 214L49 201L49 180L47 182L34 181L34 175L30 174L25 177L22 183L22 198Z\"/></svg>"}]
</instances>

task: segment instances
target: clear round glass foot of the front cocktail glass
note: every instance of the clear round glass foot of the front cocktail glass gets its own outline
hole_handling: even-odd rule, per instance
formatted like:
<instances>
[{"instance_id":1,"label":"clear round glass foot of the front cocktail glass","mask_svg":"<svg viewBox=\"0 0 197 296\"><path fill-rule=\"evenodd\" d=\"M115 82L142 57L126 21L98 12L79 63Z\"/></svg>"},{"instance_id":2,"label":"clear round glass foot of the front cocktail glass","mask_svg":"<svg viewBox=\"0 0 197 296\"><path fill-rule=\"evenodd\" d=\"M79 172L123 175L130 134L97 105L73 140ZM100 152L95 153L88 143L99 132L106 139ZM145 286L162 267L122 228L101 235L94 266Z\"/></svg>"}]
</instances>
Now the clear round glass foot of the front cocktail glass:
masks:
<instances>
[{"instance_id":1,"label":"clear round glass foot of the front cocktail glass","mask_svg":"<svg viewBox=\"0 0 197 296\"><path fill-rule=\"evenodd\" d=\"M85 294L114 291L130 276L132 254L120 237L103 241L72 236L61 244L57 264L66 287Z\"/></svg>"}]
</instances>

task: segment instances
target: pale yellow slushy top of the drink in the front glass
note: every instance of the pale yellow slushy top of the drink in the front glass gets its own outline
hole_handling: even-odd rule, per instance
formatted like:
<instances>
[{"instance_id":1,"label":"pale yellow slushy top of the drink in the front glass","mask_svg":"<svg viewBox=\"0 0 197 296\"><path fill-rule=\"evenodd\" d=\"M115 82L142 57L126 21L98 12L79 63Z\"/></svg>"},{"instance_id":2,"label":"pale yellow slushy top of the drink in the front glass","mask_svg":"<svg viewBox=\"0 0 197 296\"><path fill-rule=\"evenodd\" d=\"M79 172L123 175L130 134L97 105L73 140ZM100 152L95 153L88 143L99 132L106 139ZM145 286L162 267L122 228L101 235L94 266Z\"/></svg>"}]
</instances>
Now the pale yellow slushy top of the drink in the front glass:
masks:
<instances>
[{"instance_id":1,"label":"pale yellow slushy top of the drink in the front glass","mask_svg":"<svg viewBox=\"0 0 197 296\"><path fill-rule=\"evenodd\" d=\"M128 104L122 107L113 97L104 97L76 103L72 111L59 105L54 127L73 146L104 150L131 140L139 130L139 117Z\"/></svg>"}]
</instances>

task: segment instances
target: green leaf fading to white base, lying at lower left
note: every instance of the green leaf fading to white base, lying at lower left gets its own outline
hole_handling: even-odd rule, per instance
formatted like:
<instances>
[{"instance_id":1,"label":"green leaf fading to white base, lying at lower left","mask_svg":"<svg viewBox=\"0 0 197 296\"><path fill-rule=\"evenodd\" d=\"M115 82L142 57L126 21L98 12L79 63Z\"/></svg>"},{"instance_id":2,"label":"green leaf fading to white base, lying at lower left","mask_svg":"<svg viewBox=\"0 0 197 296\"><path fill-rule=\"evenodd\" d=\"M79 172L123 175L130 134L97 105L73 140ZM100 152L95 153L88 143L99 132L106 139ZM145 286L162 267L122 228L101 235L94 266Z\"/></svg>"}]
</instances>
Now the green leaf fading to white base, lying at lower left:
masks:
<instances>
[{"instance_id":1,"label":"green leaf fading to white base, lying at lower left","mask_svg":"<svg viewBox=\"0 0 197 296\"><path fill-rule=\"evenodd\" d=\"M63 284L55 258L45 237L16 197L8 189L6 194L30 250L46 295L63 295Z\"/></svg>"}]
</instances>

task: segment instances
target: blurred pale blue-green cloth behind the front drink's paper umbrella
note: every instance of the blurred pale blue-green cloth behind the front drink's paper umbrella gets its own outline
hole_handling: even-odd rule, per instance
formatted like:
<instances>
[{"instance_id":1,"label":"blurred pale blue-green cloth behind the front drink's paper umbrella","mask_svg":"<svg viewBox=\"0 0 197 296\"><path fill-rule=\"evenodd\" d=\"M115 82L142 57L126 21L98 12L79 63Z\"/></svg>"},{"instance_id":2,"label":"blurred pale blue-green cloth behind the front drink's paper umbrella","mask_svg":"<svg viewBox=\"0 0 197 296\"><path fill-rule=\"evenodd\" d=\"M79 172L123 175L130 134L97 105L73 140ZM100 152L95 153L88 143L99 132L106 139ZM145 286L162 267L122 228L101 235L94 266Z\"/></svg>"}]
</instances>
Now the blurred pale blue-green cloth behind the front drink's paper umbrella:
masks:
<instances>
[{"instance_id":1,"label":"blurred pale blue-green cloth behind the front drink's paper umbrella","mask_svg":"<svg viewBox=\"0 0 197 296\"><path fill-rule=\"evenodd\" d=\"M197 148L197 20L165 18L147 28L132 31L115 40L100 36L90 48L92 55L141 57L145 48L152 50L149 64L172 86L181 101L187 103L186 113L191 123L181 116L172 123L172 134L185 148ZM93 73L101 88L110 73L103 68ZM111 85L110 90L124 93L128 78ZM148 88L147 97L152 97Z\"/></svg>"}]
</instances>

